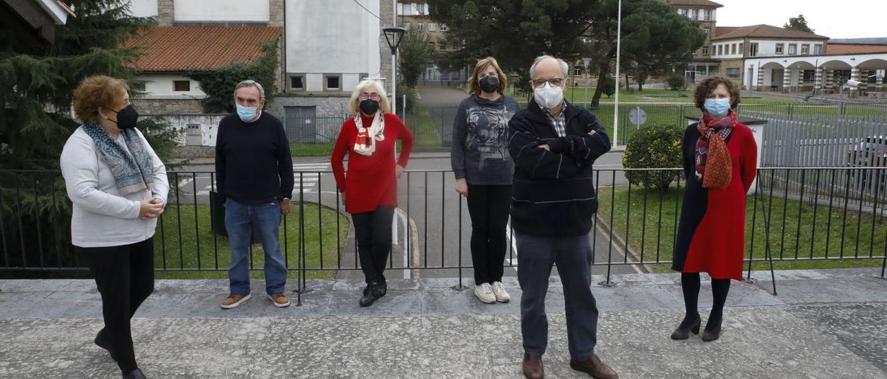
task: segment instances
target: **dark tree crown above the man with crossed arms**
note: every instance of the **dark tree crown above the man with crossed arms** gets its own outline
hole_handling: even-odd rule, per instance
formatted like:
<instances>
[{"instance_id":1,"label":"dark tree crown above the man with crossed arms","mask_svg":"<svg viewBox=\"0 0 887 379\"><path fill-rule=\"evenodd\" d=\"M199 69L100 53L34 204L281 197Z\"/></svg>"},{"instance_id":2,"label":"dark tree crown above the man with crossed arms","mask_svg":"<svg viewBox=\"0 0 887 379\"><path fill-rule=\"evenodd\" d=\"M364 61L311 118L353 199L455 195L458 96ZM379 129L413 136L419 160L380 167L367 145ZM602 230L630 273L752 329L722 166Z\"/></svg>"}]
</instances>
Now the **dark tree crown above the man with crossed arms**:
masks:
<instances>
[{"instance_id":1,"label":"dark tree crown above the man with crossed arms","mask_svg":"<svg viewBox=\"0 0 887 379\"><path fill-rule=\"evenodd\" d=\"M533 58L553 55L573 62L585 52L580 36L600 0L428 0L431 18L449 27L448 43L459 50L442 54L440 65L459 69L494 57L508 73L530 79ZM526 86L526 85L524 85Z\"/></svg>"}]
</instances>

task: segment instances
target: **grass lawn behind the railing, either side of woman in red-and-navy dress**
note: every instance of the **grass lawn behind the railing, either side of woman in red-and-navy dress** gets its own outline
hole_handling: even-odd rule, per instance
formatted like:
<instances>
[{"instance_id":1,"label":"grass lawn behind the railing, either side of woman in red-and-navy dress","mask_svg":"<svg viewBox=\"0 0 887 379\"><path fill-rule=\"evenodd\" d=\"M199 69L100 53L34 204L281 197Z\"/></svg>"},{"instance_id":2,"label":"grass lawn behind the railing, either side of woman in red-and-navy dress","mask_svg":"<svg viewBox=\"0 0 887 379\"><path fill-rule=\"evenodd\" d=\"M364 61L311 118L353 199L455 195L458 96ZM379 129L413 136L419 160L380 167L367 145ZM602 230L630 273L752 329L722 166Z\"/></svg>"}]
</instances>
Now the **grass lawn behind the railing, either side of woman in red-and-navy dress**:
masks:
<instances>
[{"instance_id":1,"label":"grass lawn behind the railing, either side of woman in red-and-navy dress","mask_svg":"<svg viewBox=\"0 0 887 379\"><path fill-rule=\"evenodd\" d=\"M657 190L644 190L632 186L630 206L629 194L628 186L616 186L615 189L600 187L598 214L608 224L613 225L614 231L620 236L625 236L626 228L628 229L628 244L638 255L643 254L644 261L656 261L657 257L659 260L671 260L672 246L677 234L676 215L679 214L679 202L683 201L683 191L672 185L670 190L661 194ZM836 203L831 208L807 202L802 205L797 200L775 196L771 198L765 194L761 194L757 199L757 214L754 214L753 210L755 196L750 195L746 200L746 259L749 258L750 246L754 259L765 258L762 200L767 209L767 216L771 218L770 246L773 251L773 267L776 269L881 267L883 264L883 259L838 260L837 258L842 255L844 257L883 256L885 238L887 238L887 218L873 217L871 213L856 213L850 210L844 213L843 204ZM852 205L850 208L852 209ZM753 215L756 216L754 225L752 225ZM857 234L858 228L859 234ZM751 244L752 237L754 245ZM820 259L780 260L795 259L796 256L798 259L809 259L811 256ZM650 266L656 272L671 271L671 266L667 264ZM752 264L752 269L756 270L769 267L767 262Z\"/></svg>"}]
</instances>

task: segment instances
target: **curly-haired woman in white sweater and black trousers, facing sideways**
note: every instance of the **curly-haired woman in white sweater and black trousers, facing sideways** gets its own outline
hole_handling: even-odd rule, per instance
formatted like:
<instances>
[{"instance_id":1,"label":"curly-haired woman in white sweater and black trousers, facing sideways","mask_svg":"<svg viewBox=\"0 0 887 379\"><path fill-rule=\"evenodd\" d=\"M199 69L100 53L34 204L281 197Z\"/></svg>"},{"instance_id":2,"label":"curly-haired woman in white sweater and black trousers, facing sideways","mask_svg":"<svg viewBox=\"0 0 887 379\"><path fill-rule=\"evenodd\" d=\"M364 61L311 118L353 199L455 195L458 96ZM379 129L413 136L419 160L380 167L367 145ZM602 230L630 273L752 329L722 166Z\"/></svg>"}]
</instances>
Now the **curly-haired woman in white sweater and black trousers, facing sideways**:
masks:
<instances>
[{"instance_id":1,"label":"curly-haired woman in white sweater and black trousers, facing sideways","mask_svg":"<svg viewBox=\"0 0 887 379\"><path fill-rule=\"evenodd\" d=\"M105 328L95 343L125 378L144 378L132 347L130 319L153 291L153 235L163 213L166 168L136 129L138 113L125 81L91 76L75 89L82 120L61 153L73 203L71 241L102 296Z\"/></svg>"}]
</instances>

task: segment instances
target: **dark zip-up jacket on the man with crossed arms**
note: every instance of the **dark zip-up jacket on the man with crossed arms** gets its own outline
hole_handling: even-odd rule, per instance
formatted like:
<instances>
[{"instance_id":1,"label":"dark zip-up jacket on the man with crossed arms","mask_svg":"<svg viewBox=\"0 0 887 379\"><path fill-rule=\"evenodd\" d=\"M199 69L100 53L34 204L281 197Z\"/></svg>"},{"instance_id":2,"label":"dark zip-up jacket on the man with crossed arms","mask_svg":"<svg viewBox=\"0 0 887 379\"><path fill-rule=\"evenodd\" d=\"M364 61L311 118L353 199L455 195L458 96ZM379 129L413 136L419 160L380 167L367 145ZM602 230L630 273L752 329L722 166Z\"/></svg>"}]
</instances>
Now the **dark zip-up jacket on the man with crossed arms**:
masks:
<instances>
[{"instance_id":1,"label":"dark zip-up jacket on the man with crossed arms","mask_svg":"<svg viewBox=\"0 0 887 379\"><path fill-rule=\"evenodd\" d=\"M535 100L508 122L508 152L514 159L511 222L518 233L557 237L591 231L598 209L592 165L610 150L610 140L587 109L566 103L562 112L566 136L557 135ZM539 147L544 144L551 151Z\"/></svg>"}]
</instances>

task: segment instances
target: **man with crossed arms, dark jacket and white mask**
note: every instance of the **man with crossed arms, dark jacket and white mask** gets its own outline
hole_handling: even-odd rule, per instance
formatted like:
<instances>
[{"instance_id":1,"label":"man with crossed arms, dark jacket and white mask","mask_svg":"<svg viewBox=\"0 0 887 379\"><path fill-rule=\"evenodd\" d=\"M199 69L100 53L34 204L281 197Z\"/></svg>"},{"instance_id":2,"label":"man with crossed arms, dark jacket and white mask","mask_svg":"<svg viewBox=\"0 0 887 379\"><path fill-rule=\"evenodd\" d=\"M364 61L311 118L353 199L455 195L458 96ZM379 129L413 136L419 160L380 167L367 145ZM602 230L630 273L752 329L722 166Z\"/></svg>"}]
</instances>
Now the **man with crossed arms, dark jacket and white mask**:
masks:
<instances>
[{"instance_id":1,"label":"man with crossed arms, dark jacket and white mask","mask_svg":"<svg viewBox=\"0 0 887 379\"><path fill-rule=\"evenodd\" d=\"M592 112L567 103L567 64L542 56L530 67L533 100L508 122L514 159L511 222L521 283L523 375L544 375L548 344L548 277L557 264L567 312L569 366L595 378L617 378L594 353L598 309L591 290L589 231L598 201L592 165L610 149Z\"/></svg>"}]
</instances>

